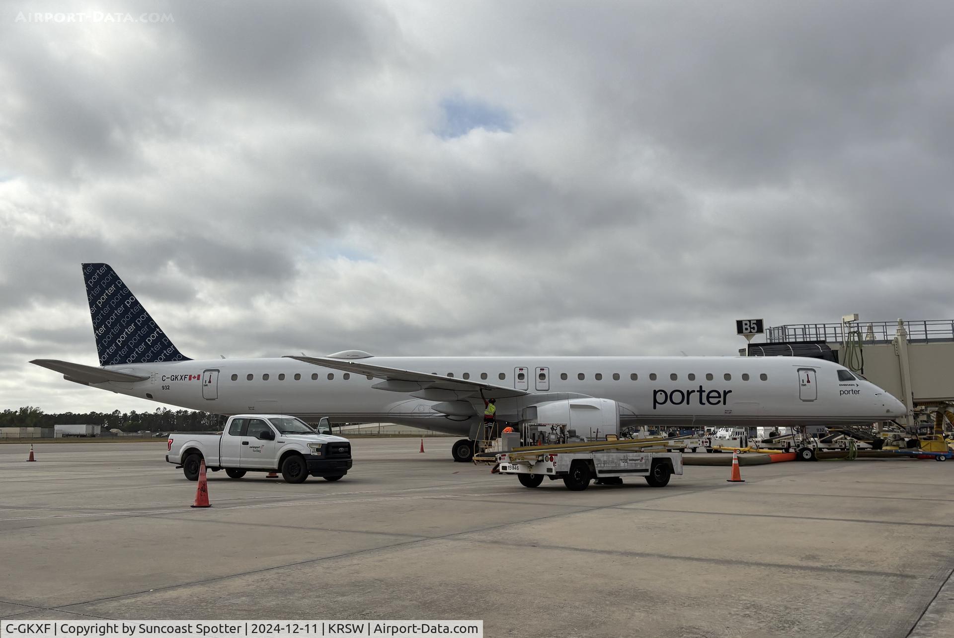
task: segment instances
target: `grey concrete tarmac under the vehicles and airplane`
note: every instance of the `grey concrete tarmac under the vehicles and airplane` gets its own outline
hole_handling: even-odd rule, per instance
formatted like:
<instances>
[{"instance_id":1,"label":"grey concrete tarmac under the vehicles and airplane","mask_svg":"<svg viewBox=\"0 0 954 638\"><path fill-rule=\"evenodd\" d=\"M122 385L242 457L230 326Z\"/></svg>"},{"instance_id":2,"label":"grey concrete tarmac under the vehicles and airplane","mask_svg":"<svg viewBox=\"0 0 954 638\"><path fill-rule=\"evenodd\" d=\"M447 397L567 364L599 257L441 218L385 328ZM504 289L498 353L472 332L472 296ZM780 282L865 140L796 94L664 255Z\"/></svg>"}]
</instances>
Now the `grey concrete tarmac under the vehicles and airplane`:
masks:
<instances>
[{"instance_id":1,"label":"grey concrete tarmac under the vehicles and airplane","mask_svg":"<svg viewBox=\"0 0 954 638\"><path fill-rule=\"evenodd\" d=\"M4 619L482 619L497 636L954 635L954 463L687 467L537 489L452 438L357 439L331 483L156 443L0 446Z\"/></svg>"}]
</instances>

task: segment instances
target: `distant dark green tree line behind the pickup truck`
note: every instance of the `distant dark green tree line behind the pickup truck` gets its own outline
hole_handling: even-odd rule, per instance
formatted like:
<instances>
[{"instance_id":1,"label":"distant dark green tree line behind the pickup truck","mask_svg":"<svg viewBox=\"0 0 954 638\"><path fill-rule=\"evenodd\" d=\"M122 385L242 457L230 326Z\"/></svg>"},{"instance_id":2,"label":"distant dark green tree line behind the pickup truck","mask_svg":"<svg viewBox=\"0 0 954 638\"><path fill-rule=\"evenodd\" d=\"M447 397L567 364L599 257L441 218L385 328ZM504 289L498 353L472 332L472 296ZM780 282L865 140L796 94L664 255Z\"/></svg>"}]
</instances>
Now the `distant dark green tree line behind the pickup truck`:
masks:
<instances>
[{"instance_id":1,"label":"distant dark green tree line behind the pickup truck","mask_svg":"<svg viewBox=\"0 0 954 638\"><path fill-rule=\"evenodd\" d=\"M222 429L225 417L207 412L156 408L156 412L63 412L47 414L33 406L0 413L0 428L52 428L54 425L101 425L122 432L211 432Z\"/></svg>"}]
</instances>

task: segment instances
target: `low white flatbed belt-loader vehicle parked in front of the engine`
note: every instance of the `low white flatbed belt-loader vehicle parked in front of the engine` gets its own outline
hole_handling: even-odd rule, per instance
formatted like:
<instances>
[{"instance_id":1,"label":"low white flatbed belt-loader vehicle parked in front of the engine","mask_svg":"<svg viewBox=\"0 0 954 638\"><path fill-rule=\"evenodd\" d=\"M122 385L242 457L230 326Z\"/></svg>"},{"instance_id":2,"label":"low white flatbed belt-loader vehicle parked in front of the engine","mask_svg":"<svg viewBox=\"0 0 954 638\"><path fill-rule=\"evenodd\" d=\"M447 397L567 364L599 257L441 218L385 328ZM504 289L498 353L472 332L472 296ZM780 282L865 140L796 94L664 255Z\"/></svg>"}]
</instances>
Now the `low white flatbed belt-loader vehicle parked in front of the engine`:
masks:
<instances>
[{"instance_id":1,"label":"low white flatbed belt-loader vehicle parked in front of the engine","mask_svg":"<svg viewBox=\"0 0 954 638\"><path fill-rule=\"evenodd\" d=\"M544 478L562 478L567 489L574 491L587 489L592 480L620 485L626 477L643 477L652 487L665 487L670 477L682 474L682 455L678 452L650 452L635 446L627 449L623 441L617 445L616 449L606 449L609 446L604 441L600 449L591 450L566 446L513 450L497 455L496 471L516 475L524 487L539 487Z\"/></svg>"}]
</instances>

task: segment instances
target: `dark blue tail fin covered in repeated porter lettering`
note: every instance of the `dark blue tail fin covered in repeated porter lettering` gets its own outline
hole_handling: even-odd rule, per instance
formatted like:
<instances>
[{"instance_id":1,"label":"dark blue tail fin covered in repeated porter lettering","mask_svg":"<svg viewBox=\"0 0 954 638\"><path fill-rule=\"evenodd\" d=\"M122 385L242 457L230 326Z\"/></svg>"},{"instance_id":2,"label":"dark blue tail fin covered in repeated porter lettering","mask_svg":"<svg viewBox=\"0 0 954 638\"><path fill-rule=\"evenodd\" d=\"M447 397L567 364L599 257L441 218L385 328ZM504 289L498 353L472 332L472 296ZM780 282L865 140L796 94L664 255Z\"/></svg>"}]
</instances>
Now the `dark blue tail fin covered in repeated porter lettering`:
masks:
<instances>
[{"instance_id":1,"label":"dark blue tail fin covered in repeated porter lettering","mask_svg":"<svg viewBox=\"0 0 954 638\"><path fill-rule=\"evenodd\" d=\"M100 366L188 361L109 264L83 264Z\"/></svg>"}]
</instances>

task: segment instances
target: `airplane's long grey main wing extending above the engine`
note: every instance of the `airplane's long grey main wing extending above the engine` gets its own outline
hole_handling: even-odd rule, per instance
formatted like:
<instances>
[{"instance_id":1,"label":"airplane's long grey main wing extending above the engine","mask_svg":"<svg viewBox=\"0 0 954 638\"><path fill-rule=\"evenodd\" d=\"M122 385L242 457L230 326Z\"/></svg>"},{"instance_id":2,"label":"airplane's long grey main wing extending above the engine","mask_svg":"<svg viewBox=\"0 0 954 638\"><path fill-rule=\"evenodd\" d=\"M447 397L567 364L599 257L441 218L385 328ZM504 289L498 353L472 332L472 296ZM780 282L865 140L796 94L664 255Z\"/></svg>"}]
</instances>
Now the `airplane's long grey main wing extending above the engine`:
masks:
<instances>
[{"instance_id":1,"label":"airplane's long grey main wing extending above the engine","mask_svg":"<svg viewBox=\"0 0 954 638\"><path fill-rule=\"evenodd\" d=\"M480 397L483 393L485 398L507 398L510 396L524 396L529 394L526 390L517 390L506 386L496 386L484 381L473 381L471 379L462 379L456 376L442 376L441 374L432 374L430 372L416 372L413 370L401 370L399 368L386 368L376 366L363 361L348 361L347 359L329 359L322 356L288 356L289 359L298 359L305 363L310 363L322 368L332 368L342 372L352 372L354 374L363 374L373 376L377 379L384 379L384 383L378 383L372 386L378 390L387 390L399 393L423 393L424 391L433 391L436 400L438 393L436 391L446 391L455 393L458 398L466 396ZM447 396L449 398L449 396Z\"/></svg>"}]
</instances>

